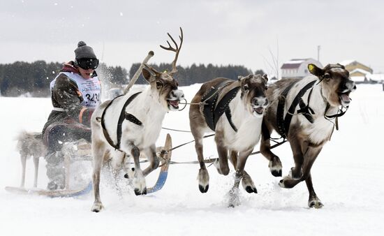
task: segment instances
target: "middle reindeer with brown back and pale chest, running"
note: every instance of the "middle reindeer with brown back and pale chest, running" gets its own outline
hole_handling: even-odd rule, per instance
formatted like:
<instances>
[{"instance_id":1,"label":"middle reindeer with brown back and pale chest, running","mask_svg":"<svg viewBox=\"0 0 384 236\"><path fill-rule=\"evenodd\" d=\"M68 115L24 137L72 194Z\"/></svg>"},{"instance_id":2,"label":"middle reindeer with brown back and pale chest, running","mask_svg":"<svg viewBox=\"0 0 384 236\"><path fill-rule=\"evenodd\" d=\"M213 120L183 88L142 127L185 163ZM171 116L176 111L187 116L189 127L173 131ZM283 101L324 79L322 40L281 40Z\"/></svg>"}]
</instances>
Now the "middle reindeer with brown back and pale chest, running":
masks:
<instances>
[{"instance_id":1,"label":"middle reindeer with brown back and pale chest, running","mask_svg":"<svg viewBox=\"0 0 384 236\"><path fill-rule=\"evenodd\" d=\"M214 131L219 160L215 166L219 174L228 175L228 153L236 170L235 184L230 190L229 205L238 205L238 188L242 185L248 193L257 193L251 177L244 170L246 159L260 140L263 112L268 105L265 97L267 75L239 76L233 81L216 78L202 84L191 101L189 120L195 139L200 170L198 182L200 192L209 188L209 175L202 154L202 137ZM226 115L223 115L226 113Z\"/></svg>"}]
</instances>

